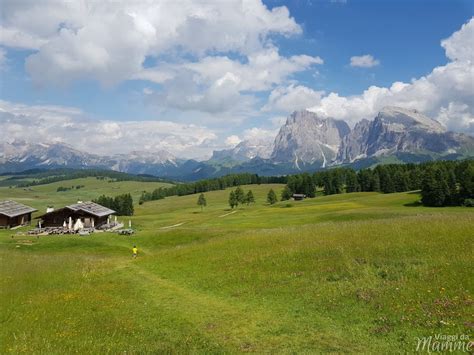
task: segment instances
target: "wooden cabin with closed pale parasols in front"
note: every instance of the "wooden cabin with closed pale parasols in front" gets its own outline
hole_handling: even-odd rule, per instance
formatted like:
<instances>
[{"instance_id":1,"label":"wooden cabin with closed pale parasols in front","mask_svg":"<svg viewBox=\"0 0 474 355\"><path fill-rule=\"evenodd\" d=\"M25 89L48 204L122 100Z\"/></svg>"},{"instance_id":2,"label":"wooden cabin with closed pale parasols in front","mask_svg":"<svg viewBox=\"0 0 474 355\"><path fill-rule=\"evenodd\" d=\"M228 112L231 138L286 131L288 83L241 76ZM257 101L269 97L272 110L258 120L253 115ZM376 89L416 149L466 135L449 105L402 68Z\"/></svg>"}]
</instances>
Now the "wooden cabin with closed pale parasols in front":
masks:
<instances>
[{"instance_id":1,"label":"wooden cabin with closed pale parasols in front","mask_svg":"<svg viewBox=\"0 0 474 355\"><path fill-rule=\"evenodd\" d=\"M69 205L64 208L46 213L39 218L42 220L43 227L60 227L64 223L68 224L69 220L76 223L81 220L85 228L100 227L107 223L111 215L115 214L114 210L101 206L94 202L80 202Z\"/></svg>"}]
</instances>

